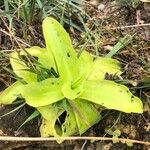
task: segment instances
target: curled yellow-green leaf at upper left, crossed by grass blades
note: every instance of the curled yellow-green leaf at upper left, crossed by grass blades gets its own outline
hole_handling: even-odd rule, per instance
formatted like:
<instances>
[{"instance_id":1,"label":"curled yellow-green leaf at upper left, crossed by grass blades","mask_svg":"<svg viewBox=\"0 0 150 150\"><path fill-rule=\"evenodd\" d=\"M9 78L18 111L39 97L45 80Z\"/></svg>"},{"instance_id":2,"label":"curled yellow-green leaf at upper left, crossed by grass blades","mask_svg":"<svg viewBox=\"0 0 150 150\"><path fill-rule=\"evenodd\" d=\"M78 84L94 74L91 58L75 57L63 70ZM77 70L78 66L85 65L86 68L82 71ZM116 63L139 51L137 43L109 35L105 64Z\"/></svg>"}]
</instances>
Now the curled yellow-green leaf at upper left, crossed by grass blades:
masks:
<instances>
[{"instance_id":1,"label":"curled yellow-green leaf at upper left, crossed by grass blades","mask_svg":"<svg viewBox=\"0 0 150 150\"><path fill-rule=\"evenodd\" d=\"M37 75L30 70L29 67L21 60L20 56L30 55L32 57L37 57L40 67L50 69L51 67L55 68L52 55L48 54L48 51L45 48L40 48L38 46L33 46L31 48L26 48L25 50L20 50L19 52L13 52L10 57L10 63L12 65L13 71L26 82L34 82L37 80ZM34 62L33 62L34 63ZM35 64L33 64L35 65ZM38 64L36 64L36 69Z\"/></svg>"}]
</instances>

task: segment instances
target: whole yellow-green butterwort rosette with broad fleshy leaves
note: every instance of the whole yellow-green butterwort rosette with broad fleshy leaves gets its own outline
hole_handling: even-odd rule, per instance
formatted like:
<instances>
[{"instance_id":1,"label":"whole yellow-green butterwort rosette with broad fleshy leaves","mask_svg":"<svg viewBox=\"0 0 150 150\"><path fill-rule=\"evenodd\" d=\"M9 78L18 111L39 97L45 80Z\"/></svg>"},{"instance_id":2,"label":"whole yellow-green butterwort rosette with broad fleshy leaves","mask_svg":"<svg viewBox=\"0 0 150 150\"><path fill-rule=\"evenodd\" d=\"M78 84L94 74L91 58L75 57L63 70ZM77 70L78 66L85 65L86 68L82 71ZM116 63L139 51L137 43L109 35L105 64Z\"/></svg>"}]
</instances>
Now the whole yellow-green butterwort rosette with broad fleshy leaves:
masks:
<instances>
[{"instance_id":1,"label":"whole yellow-green butterwort rosette with broad fleshy leaves","mask_svg":"<svg viewBox=\"0 0 150 150\"><path fill-rule=\"evenodd\" d=\"M42 117L42 137L81 135L100 121L101 108L143 112L141 100L126 86L105 80L106 73L122 73L117 60L76 53L68 33L51 17L44 19L42 28L46 48L10 54L18 80L0 94L1 104L22 98L34 107Z\"/></svg>"}]
</instances>

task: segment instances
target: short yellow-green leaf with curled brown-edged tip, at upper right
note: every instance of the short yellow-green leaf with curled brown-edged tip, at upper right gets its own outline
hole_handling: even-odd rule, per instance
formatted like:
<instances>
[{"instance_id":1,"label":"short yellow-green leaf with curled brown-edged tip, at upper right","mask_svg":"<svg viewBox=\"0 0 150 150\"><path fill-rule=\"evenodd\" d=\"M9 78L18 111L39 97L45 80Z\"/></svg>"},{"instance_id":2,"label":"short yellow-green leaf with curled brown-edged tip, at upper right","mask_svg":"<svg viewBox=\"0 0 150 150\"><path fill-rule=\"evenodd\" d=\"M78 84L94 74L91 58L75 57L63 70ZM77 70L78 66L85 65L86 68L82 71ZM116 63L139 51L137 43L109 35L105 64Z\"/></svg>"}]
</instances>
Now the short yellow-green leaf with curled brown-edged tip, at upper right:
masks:
<instances>
[{"instance_id":1,"label":"short yellow-green leaf with curled brown-edged tip, at upper right","mask_svg":"<svg viewBox=\"0 0 150 150\"><path fill-rule=\"evenodd\" d=\"M120 75L122 72L119 61L106 57L97 58L88 80L102 80L106 73Z\"/></svg>"}]
</instances>

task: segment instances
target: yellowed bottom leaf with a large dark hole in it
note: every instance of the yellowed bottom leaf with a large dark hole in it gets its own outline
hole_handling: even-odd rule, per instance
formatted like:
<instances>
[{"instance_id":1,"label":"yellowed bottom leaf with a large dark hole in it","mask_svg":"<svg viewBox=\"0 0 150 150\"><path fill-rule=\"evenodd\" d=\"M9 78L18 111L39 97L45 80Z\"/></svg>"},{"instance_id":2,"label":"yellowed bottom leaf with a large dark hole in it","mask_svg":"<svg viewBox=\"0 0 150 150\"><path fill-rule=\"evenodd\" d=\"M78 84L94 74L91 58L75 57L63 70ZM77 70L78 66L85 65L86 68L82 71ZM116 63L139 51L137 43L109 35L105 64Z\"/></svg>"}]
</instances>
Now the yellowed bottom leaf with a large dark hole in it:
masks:
<instances>
[{"instance_id":1,"label":"yellowed bottom leaf with a large dark hole in it","mask_svg":"<svg viewBox=\"0 0 150 150\"><path fill-rule=\"evenodd\" d=\"M37 109L44 118L40 127L41 136L62 137L78 134L75 116L69 105L67 105L66 110L63 106L59 107L57 104L38 107ZM64 118L59 118L63 113L66 116L63 115L62 117ZM63 119L64 122L61 122L59 119ZM62 140L58 140L57 142L61 143Z\"/></svg>"}]
</instances>

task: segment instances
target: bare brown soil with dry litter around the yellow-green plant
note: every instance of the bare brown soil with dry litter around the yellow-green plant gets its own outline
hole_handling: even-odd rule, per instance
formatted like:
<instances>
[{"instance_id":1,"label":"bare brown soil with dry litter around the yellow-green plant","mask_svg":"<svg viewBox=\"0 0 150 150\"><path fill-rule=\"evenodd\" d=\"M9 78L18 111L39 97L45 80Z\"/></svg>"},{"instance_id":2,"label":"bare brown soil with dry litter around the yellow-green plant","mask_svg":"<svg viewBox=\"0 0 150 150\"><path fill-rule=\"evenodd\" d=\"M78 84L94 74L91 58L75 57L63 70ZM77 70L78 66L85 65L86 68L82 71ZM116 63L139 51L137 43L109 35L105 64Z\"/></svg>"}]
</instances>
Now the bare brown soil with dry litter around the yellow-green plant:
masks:
<instances>
[{"instance_id":1,"label":"bare brown soil with dry litter around the yellow-green plant","mask_svg":"<svg viewBox=\"0 0 150 150\"><path fill-rule=\"evenodd\" d=\"M98 10L98 5L104 4L104 10ZM88 10L89 15L96 23L95 28L102 31L102 36L99 41L98 53L105 55L120 37L130 33L135 34L133 42L125 47L121 52L115 55L115 58L120 60L124 66L123 78L129 80L127 84L132 92L143 99L144 113L139 114L125 114L117 111L103 111L103 119L91 129L89 129L85 136L107 136L112 137L109 131L119 129L121 131L120 138L137 139L141 141L150 141L150 92L147 86L141 83L150 75L150 69L147 64L150 64L150 25L140 26L141 22L147 24L150 22L150 7L146 4L139 5L136 9L132 7L113 6L111 1L87 1L83 5L85 11ZM140 14L137 16L137 13ZM74 16L73 16L74 17ZM86 20L85 23L90 28L91 21ZM2 23L0 24L4 26ZM134 26L136 25L136 26ZM22 33L19 32L21 24L18 25L16 35L22 38ZM120 28L118 28L120 27ZM41 32L40 23L35 23L34 30L29 32L30 42L26 45L39 45L43 46L44 42L38 32ZM94 30L94 29L93 29ZM29 30L28 30L29 31ZM82 37L79 31L72 32L69 30L72 38L79 41ZM32 36L32 34L34 36ZM36 36L35 36L36 35ZM15 42L8 38L5 33L1 34L0 48L12 49L15 48ZM34 37L32 39L32 37ZM7 40L6 40L7 39ZM21 43L23 44L23 43ZM93 47L87 49L93 52ZM6 58L0 59L1 64L9 62ZM2 62L3 61L3 62ZM6 75L4 70L0 69L0 91L5 89L13 82L13 79ZM8 73L7 73L8 74ZM136 86L135 86L136 85ZM0 116L16 108L16 105L0 106ZM0 135L4 136L20 136L20 137L37 137L40 136L39 127L41 123L40 117L28 122L21 129L19 126L24 122L33 109L29 106L24 106L14 113L0 118ZM83 135L83 136L84 136ZM112 141L64 141L62 144L57 142L0 142L1 150L150 150L150 146L134 144L132 147L127 146L125 143L113 143Z\"/></svg>"}]
</instances>

